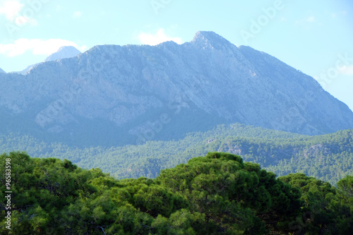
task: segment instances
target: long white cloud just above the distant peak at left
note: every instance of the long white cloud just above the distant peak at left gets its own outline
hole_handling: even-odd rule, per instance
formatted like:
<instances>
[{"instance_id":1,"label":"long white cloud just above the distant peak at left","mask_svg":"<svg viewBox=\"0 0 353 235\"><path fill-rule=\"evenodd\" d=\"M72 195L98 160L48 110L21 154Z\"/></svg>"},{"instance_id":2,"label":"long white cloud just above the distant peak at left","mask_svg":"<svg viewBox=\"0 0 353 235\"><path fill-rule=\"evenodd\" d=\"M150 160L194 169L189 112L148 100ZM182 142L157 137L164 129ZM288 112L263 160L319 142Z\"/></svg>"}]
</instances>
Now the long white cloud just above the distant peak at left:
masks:
<instances>
[{"instance_id":1,"label":"long white cloud just above the distant peak at left","mask_svg":"<svg viewBox=\"0 0 353 235\"><path fill-rule=\"evenodd\" d=\"M25 52L32 52L35 55L46 55L53 54L57 52L60 47L63 46L73 46L79 49L81 52L85 51L86 47L78 47L78 44L75 42L70 42L68 40L61 39L49 39L49 40L40 40L40 39L26 39L21 38L16 40L11 44L0 44L0 54L4 54L9 57L19 56L25 54Z\"/></svg>"}]
</instances>

